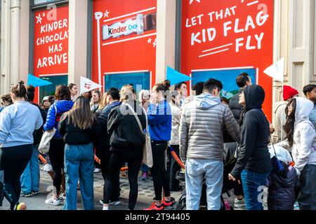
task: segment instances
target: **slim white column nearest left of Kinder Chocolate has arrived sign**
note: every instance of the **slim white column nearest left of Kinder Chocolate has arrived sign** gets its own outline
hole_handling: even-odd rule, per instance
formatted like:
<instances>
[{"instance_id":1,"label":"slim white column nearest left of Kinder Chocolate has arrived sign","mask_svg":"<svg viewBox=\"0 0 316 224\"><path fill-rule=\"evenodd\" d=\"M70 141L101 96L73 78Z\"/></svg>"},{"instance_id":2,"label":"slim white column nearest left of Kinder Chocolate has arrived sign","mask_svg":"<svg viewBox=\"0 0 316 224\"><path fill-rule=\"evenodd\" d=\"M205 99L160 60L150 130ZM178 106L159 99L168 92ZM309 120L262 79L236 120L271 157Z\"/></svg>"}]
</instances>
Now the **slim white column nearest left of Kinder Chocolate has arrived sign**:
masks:
<instances>
[{"instance_id":1,"label":"slim white column nearest left of Kinder Chocolate has arrived sign","mask_svg":"<svg viewBox=\"0 0 316 224\"><path fill-rule=\"evenodd\" d=\"M20 11L21 1L11 0L11 85L18 83L20 78Z\"/></svg>"}]
</instances>

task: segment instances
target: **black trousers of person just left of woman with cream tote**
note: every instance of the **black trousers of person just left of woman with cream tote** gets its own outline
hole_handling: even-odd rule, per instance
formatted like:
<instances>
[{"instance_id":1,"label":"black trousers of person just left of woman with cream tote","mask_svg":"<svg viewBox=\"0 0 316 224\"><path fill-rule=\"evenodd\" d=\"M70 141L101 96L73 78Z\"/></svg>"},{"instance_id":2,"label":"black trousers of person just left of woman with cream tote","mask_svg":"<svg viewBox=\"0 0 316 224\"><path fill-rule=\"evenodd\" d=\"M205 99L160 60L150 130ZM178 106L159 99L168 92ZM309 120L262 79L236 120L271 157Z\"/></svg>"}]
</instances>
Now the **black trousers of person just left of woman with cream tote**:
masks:
<instances>
[{"instance_id":1,"label":"black trousers of person just left of woman with cream tote","mask_svg":"<svg viewBox=\"0 0 316 224\"><path fill-rule=\"evenodd\" d=\"M107 167L109 166L110 163L110 156L111 153L107 152L100 152L98 153L98 158L101 161L101 170L102 170L102 176L104 179L104 186L103 186L103 202L105 201L105 190L106 190L106 186L105 186L105 179L107 177ZM119 201L119 195L120 195L120 188L119 188L119 173L120 170L117 171L117 179L114 179L114 181L112 182L112 194L110 196L110 201L111 202L118 202Z\"/></svg>"}]
</instances>

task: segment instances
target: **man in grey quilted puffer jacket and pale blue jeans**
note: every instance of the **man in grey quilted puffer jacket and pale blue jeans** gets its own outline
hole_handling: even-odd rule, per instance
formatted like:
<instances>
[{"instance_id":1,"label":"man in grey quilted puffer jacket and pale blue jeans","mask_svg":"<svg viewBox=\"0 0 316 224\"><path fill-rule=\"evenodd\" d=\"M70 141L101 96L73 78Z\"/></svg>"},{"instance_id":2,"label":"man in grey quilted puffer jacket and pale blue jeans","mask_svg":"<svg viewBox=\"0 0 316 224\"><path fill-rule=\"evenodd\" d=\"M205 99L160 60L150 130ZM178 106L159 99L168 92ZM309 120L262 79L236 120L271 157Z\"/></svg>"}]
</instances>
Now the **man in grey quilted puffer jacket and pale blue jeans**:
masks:
<instances>
[{"instance_id":1,"label":"man in grey quilted puffer jacket and pale blue jeans","mask_svg":"<svg viewBox=\"0 0 316 224\"><path fill-rule=\"evenodd\" d=\"M240 141L239 126L229 107L220 104L219 80L204 83L204 94L183 107L180 120L180 158L185 162L187 210L199 210L202 182L209 210L220 209L223 188L223 130Z\"/></svg>"}]
</instances>

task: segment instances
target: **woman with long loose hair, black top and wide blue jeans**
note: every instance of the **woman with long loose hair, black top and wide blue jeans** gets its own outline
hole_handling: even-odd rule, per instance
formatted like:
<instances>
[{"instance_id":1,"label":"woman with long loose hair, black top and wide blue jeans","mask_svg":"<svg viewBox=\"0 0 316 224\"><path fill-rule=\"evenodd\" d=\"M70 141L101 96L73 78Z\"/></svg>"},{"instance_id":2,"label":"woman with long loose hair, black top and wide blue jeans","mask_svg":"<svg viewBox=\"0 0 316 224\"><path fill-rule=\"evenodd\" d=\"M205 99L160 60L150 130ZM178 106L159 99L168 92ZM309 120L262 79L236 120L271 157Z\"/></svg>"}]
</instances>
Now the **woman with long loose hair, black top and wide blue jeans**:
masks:
<instances>
[{"instance_id":1,"label":"woman with long loose hair, black top and wide blue jeans","mask_svg":"<svg viewBox=\"0 0 316 224\"><path fill-rule=\"evenodd\" d=\"M93 142L100 130L88 99L78 97L73 108L65 113L58 125L65 141L66 203L64 210L77 210L77 183L85 210L93 210Z\"/></svg>"}]
</instances>

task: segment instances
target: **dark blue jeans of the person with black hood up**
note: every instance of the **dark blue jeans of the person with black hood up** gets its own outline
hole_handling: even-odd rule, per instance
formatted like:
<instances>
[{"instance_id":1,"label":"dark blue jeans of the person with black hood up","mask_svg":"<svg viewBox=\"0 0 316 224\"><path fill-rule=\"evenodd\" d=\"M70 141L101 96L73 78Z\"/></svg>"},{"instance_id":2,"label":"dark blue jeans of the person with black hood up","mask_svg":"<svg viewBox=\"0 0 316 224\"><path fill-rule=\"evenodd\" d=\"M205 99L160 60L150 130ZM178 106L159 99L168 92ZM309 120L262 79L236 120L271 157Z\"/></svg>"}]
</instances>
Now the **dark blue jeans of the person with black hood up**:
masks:
<instances>
[{"instance_id":1,"label":"dark blue jeans of the person with black hood up","mask_svg":"<svg viewBox=\"0 0 316 224\"><path fill-rule=\"evenodd\" d=\"M244 200L247 210L263 210L263 187L266 186L270 174L260 174L244 169L242 172L242 186L244 187Z\"/></svg>"}]
</instances>

